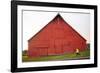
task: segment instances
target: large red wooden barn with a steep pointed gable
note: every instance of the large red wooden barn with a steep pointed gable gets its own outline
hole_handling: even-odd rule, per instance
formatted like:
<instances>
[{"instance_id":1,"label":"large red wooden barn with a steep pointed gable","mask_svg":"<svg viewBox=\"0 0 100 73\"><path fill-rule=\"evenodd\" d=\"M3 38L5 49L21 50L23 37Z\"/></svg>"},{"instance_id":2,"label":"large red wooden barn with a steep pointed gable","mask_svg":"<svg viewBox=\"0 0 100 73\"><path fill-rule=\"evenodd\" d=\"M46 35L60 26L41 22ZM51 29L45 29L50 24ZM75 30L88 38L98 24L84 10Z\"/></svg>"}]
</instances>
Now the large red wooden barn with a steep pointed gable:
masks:
<instances>
[{"instance_id":1,"label":"large red wooden barn with a steep pointed gable","mask_svg":"<svg viewBox=\"0 0 100 73\"><path fill-rule=\"evenodd\" d=\"M28 40L29 57L61 55L86 49L86 40L58 14Z\"/></svg>"}]
</instances>

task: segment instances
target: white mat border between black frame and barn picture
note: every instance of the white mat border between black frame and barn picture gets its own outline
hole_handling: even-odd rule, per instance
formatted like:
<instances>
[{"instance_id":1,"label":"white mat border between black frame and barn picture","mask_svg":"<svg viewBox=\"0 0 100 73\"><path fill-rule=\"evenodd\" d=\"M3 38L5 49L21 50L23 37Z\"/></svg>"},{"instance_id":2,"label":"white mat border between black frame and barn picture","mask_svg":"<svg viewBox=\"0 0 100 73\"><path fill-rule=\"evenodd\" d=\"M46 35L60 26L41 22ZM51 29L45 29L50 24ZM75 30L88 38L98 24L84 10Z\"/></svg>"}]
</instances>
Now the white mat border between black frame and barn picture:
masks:
<instances>
[{"instance_id":1,"label":"white mat border between black frame and barn picture","mask_svg":"<svg viewBox=\"0 0 100 73\"><path fill-rule=\"evenodd\" d=\"M91 21L91 29L90 33L91 41L90 41L90 59L85 60L68 60L68 61L46 61L46 62L22 62L22 44L21 44L21 10L50 10L50 11L71 11L71 12L87 12L90 13L90 21ZM25 68L25 67L40 67L40 66L57 66L57 65L76 65L76 64L90 64L94 63L94 10L92 9L73 9L73 8L57 8L57 7L39 7L39 6L18 6L18 68Z\"/></svg>"}]
</instances>

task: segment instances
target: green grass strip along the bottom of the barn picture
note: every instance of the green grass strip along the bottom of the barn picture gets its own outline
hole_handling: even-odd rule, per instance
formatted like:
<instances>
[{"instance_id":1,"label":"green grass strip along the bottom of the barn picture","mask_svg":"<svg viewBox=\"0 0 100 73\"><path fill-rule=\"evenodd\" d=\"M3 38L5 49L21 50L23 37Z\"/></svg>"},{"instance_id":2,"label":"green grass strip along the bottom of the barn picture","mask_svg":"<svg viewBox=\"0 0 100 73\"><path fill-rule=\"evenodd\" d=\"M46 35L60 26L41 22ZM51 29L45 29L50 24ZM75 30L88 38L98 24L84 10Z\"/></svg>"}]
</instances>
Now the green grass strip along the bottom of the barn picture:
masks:
<instances>
[{"instance_id":1,"label":"green grass strip along the bottom of the barn picture","mask_svg":"<svg viewBox=\"0 0 100 73\"><path fill-rule=\"evenodd\" d=\"M27 55L22 56L23 62L36 62L36 61L54 61L54 60L79 60L79 59L89 59L90 57L90 50L87 49L86 51L80 52L79 55L73 54L63 54L63 55L55 55L55 56L44 56L44 57L37 57L37 58L30 58Z\"/></svg>"}]
</instances>

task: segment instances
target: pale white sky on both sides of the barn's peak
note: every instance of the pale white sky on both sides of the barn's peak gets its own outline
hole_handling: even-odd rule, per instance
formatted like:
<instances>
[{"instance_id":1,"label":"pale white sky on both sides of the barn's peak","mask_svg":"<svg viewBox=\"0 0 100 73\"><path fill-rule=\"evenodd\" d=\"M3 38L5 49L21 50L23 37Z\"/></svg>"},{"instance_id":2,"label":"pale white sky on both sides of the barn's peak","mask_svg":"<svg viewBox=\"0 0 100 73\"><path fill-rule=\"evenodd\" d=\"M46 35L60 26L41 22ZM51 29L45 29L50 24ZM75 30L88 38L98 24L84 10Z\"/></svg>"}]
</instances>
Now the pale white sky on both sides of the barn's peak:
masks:
<instances>
[{"instance_id":1,"label":"pale white sky on both sides of the barn's peak","mask_svg":"<svg viewBox=\"0 0 100 73\"><path fill-rule=\"evenodd\" d=\"M50 22L58 12L23 11L23 50L28 47L28 40ZM90 42L90 14L60 12L63 19L79 34Z\"/></svg>"}]
</instances>

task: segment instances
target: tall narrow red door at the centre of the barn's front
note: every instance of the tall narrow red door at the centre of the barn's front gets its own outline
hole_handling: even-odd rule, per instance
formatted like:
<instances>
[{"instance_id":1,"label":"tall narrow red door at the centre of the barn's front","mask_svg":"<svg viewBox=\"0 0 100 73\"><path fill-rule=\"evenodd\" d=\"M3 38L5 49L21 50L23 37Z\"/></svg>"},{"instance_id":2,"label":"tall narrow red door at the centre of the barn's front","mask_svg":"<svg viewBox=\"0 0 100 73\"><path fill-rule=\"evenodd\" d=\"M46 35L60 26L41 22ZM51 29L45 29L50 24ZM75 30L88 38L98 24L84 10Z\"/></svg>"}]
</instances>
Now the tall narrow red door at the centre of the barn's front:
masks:
<instances>
[{"instance_id":1,"label":"tall narrow red door at the centre of the barn's front","mask_svg":"<svg viewBox=\"0 0 100 73\"><path fill-rule=\"evenodd\" d=\"M55 43L54 43L54 46L55 46L55 53L60 55L62 54L62 40L61 39L56 39L55 40Z\"/></svg>"}]
</instances>

